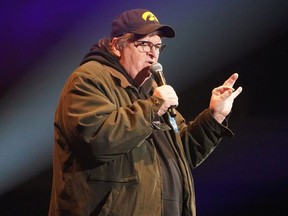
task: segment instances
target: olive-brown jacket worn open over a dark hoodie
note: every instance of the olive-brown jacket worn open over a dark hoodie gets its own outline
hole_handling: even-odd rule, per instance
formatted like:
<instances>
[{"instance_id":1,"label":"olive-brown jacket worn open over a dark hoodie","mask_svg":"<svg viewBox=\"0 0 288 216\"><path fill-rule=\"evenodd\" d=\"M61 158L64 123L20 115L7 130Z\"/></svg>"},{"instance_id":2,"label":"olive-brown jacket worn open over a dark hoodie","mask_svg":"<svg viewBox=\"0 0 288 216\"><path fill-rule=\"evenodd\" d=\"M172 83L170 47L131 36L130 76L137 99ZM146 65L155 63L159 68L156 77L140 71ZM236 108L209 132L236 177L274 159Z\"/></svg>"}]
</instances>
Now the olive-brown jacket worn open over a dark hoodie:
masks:
<instances>
[{"instance_id":1,"label":"olive-brown jacket worn open over a dark hoodie","mask_svg":"<svg viewBox=\"0 0 288 216\"><path fill-rule=\"evenodd\" d=\"M141 92L122 73L89 61L68 78L55 113L55 148L50 216L161 216L158 155L149 138L163 101ZM168 115L166 124L172 128ZM195 216L191 170L232 132L204 110L178 132L165 133L179 158L184 180L183 215Z\"/></svg>"}]
</instances>

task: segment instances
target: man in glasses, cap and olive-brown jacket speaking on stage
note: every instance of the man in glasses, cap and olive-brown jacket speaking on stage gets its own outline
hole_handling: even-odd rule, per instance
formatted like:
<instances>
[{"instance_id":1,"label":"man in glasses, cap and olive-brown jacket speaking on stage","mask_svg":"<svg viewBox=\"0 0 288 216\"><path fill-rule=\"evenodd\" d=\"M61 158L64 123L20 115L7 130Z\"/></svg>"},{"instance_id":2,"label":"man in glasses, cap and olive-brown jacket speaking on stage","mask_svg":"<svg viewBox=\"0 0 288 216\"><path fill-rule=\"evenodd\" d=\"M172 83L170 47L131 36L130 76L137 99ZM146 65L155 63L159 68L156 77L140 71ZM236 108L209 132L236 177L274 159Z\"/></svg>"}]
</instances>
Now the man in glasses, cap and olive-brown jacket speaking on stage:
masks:
<instances>
[{"instance_id":1,"label":"man in glasses, cap and olive-brown jacket speaking on stage","mask_svg":"<svg viewBox=\"0 0 288 216\"><path fill-rule=\"evenodd\" d=\"M224 136L242 88L238 74L212 91L187 123L178 97L151 66L172 27L144 9L125 11L68 78L55 113L50 215L196 215L191 170Z\"/></svg>"}]
</instances>

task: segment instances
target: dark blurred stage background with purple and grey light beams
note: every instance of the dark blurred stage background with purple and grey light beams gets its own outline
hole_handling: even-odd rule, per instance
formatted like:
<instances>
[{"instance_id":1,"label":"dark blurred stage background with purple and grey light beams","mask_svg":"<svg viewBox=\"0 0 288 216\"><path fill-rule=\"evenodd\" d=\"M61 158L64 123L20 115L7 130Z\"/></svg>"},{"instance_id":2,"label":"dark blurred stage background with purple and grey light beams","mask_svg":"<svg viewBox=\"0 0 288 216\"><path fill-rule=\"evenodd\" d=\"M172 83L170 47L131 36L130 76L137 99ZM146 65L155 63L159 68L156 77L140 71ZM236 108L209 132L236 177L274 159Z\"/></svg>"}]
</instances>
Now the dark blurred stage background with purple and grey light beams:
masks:
<instances>
[{"instance_id":1,"label":"dark blurred stage background with purple and grey light beams","mask_svg":"<svg viewBox=\"0 0 288 216\"><path fill-rule=\"evenodd\" d=\"M1 1L0 215L47 215L61 88L131 8L175 28L160 62L187 120L240 75L235 136L193 172L198 215L288 215L287 0Z\"/></svg>"}]
</instances>

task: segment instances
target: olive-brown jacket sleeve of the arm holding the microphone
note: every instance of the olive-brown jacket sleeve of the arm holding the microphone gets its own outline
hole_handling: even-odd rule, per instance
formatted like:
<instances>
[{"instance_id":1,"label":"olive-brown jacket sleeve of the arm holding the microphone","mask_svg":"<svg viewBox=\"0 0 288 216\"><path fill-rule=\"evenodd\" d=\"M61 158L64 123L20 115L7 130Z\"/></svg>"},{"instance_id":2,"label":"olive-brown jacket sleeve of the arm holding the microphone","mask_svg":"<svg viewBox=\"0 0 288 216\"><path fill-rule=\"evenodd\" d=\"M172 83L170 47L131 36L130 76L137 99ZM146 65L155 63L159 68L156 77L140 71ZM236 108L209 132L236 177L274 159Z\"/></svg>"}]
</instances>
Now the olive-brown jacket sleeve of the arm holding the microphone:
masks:
<instances>
[{"instance_id":1,"label":"olive-brown jacket sleeve of the arm holding the microphone","mask_svg":"<svg viewBox=\"0 0 288 216\"><path fill-rule=\"evenodd\" d=\"M144 142L162 102L152 96L132 103L111 76L97 76L78 73L70 78L56 122L64 128L74 152L107 162Z\"/></svg>"}]
</instances>

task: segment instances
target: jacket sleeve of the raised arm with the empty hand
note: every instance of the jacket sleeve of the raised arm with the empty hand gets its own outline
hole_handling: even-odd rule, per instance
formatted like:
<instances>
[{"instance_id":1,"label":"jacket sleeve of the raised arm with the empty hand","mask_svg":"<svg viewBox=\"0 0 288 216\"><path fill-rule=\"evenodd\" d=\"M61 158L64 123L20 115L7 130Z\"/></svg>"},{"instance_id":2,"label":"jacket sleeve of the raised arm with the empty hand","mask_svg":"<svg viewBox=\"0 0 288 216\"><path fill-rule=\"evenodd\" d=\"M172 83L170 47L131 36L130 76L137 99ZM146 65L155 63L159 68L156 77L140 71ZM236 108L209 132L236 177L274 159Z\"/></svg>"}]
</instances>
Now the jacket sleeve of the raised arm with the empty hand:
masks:
<instances>
[{"instance_id":1,"label":"jacket sleeve of the raised arm with the empty hand","mask_svg":"<svg viewBox=\"0 0 288 216\"><path fill-rule=\"evenodd\" d=\"M181 118L180 118L181 119ZM209 109L205 109L193 121L186 125L184 120L179 126L185 155L190 167L194 169L203 162L225 136L233 136L233 132L224 124L218 123Z\"/></svg>"}]
</instances>

